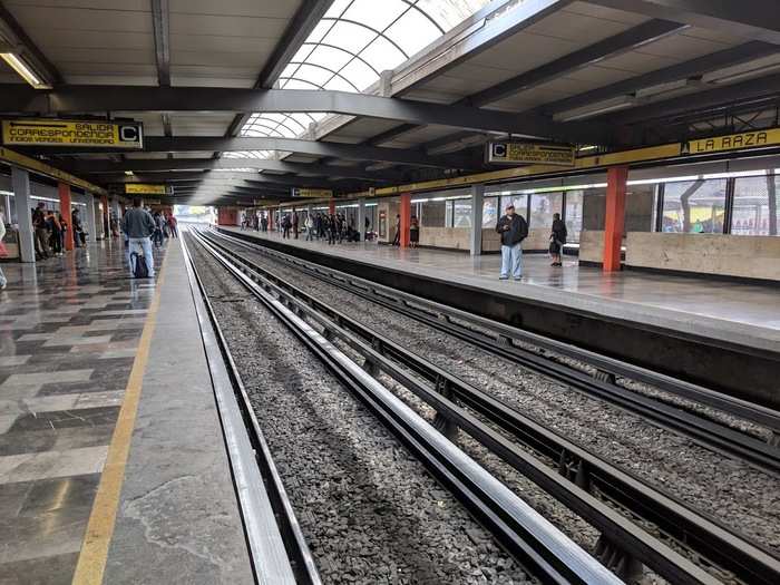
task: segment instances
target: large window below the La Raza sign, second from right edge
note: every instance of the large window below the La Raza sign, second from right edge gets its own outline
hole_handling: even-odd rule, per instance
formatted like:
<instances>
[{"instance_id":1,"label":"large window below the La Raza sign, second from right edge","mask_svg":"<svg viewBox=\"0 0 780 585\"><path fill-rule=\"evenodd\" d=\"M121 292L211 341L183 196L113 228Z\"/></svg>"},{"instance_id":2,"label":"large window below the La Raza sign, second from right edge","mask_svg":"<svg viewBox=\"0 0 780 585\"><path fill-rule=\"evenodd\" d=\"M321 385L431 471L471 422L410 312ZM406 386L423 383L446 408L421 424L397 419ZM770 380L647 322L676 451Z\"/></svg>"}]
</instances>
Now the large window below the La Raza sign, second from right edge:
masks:
<instances>
[{"instance_id":1,"label":"large window below the La Raza sign, second from right edge","mask_svg":"<svg viewBox=\"0 0 780 585\"><path fill-rule=\"evenodd\" d=\"M725 184L724 178L666 183L662 230L691 234L722 234Z\"/></svg>"}]
</instances>

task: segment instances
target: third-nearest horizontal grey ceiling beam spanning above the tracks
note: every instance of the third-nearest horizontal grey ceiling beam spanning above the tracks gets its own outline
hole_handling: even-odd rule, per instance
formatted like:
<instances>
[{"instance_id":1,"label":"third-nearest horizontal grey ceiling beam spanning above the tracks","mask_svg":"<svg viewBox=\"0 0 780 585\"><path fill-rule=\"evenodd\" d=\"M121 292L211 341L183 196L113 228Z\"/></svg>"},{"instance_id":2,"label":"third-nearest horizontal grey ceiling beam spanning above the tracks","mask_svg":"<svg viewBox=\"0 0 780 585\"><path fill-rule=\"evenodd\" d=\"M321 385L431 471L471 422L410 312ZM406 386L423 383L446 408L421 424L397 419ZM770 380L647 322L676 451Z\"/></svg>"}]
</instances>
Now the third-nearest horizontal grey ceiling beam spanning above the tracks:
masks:
<instances>
[{"instance_id":1,"label":"third-nearest horizontal grey ceiling beam spanning above the tracks","mask_svg":"<svg viewBox=\"0 0 780 585\"><path fill-rule=\"evenodd\" d=\"M367 172L355 167L319 165L315 163L284 163L265 158L128 158L120 162L108 159L77 159L67 165L75 175L95 175L100 173L124 173L125 170L165 172L165 170L214 170L231 168L256 168L295 173L328 178L354 178L378 183L392 183L400 178L392 172ZM260 174L257 175L260 176ZM277 178L277 175L274 175ZM290 177L282 177L287 179ZM309 177L306 177L309 178Z\"/></svg>"}]
</instances>

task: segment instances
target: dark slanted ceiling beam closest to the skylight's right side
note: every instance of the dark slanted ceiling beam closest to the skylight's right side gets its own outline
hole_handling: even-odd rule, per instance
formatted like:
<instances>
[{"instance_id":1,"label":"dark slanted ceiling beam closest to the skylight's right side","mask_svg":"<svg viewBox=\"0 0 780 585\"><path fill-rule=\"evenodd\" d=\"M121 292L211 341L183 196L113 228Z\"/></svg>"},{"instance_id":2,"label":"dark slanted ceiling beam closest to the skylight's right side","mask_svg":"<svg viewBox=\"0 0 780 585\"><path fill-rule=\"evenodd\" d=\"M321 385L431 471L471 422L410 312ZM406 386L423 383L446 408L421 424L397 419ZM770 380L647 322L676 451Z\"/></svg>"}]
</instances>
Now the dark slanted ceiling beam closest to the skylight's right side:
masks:
<instances>
[{"instance_id":1,"label":"dark slanted ceiling beam closest to the skylight's right side","mask_svg":"<svg viewBox=\"0 0 780 585\"><path fill-rule=\"evenodd\" d=\"M644 45L674 35L686 28L689 28L688 25L680 25L669 20L650 20L624 32L595 42L584 49L571 52L536 69L501 81L500 84L462 99L458 104L475 107L486 106L506 97L517 95L520 91L527 91L528 89L557 79L560 76L582 69L588 65L635 50Z\"/></svg>"}]
</instances>

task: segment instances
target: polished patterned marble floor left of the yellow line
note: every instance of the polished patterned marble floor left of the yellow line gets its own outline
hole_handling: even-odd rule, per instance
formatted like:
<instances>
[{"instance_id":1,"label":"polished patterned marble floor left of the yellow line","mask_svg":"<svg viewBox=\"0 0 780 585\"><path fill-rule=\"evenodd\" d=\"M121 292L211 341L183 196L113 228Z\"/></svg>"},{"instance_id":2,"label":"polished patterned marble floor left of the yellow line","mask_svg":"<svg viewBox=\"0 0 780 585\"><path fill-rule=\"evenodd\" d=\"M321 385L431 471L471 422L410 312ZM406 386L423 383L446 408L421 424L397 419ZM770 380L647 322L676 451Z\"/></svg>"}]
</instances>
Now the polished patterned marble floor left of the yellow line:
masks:
<instances>
[{"instance_id":1,"label":"polished patterned marble floor left of the yellow line","mask_svg":"<svg viewBox=\"0 0 780 585\"><path fill-rule=\"evenodd\" d=\"M101 242L2 264L0 585L71 581L155 291L124 262Z\"/></svg>"}]
</instances>

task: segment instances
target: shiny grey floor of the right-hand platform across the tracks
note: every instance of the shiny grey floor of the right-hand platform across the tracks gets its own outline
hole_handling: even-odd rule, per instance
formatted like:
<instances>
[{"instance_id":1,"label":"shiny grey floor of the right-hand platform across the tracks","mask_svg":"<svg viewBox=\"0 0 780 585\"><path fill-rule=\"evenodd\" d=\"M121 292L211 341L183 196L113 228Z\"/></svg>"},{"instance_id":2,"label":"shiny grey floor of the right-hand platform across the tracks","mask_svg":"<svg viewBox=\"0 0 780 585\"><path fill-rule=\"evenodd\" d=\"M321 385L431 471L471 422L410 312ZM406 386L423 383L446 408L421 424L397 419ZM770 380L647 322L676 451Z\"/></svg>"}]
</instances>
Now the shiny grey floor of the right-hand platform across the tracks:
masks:
<instances>
[{"instance_id":1,"label":"shiny grey floor of the right-hand platform across the tracks","mask_svg":"<svg viewBox=\"0 0 780 585\"><path fill-rule=\"evenodd\" d=\"M234 230L240 231L238 227ZM248 233L282 240L276 232ZM325 242L306 242L303 237L284 243L617 319L774 351L780 348L780 289L777 286L636 271L605 274L597 267L579 266L572 256L565 256L563 267L553 267L547 254L524 255L521 282L499 281L498 254L472 257L464 252L401 250L363 242L328 246Z\"/></svg>"}]
</instances>

